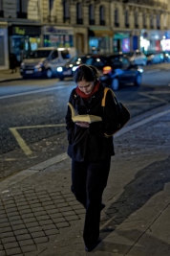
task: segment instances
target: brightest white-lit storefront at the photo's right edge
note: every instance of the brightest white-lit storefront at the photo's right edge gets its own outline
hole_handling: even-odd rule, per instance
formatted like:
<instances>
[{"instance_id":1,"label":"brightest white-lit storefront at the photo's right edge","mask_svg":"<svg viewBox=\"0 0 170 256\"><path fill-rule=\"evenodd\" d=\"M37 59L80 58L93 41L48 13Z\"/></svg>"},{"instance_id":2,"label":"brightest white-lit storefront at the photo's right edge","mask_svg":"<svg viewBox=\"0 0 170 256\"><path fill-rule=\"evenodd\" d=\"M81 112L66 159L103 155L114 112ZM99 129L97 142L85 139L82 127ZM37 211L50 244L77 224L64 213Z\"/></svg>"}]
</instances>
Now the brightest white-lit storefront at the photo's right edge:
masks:
<instances>
[{"instance_id":1,"label":"brightest white-lit storefront at the photo's right edge","mask_svg":"<svg viewBox=\"0 0 170 256\"><path fill-rule=\"evenodd\" d=\"M141 30L140 50L144 53L170 51L170 32Z\"/></svg>"}]
</instances>

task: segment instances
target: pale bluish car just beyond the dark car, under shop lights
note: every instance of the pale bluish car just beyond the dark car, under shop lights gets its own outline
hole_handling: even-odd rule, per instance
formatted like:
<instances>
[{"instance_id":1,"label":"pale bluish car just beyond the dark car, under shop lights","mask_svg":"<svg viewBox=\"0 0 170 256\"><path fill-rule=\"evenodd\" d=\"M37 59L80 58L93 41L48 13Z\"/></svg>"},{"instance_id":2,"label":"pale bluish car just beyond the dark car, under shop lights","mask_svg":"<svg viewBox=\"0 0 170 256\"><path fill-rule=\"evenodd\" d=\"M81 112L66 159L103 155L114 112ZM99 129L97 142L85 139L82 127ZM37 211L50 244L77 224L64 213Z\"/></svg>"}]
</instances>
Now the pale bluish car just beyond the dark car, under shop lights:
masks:
<instances>
[{"instance_id":1,"label":"pale bluish car just beyond the dark car, under shop lights","mask_svg":"<svg viewBox=\"0 0 170 256\"><path fill-rule=\"evenodd\" d=\"M146 56L139 52L138 50L134 51L134 52L130 52L128 54L126 54L127 57L129 58L129 60L133 63L133 64L137 64L137 65L146 65L147 63L147 58Z\"/></svg>"}]
</instances>

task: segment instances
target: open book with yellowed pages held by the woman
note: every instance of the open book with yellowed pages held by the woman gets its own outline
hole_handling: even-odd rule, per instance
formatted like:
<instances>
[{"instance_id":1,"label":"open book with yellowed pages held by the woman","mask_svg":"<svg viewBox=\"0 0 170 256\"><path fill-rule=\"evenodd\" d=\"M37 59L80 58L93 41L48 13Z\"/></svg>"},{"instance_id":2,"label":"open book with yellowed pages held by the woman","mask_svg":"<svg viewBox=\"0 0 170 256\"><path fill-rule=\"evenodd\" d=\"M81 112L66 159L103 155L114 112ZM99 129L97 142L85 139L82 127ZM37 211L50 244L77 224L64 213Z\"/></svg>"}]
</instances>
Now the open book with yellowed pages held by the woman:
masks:
<instances>
[{"instance_id":1,"label":"open book with yellowed pages held by the woman","mask_svg":"<svg viewBox=\"0 0 170 256\"><path fill-rule=\"evenodd\" d=\"M74 123L76 122L87 122L89 124L94 123L94 122L100 122L102 121L100 116L95 116L95 115L78 115L78 113L75 111L74 106L68 103L68 105L71 108L72 112L72 120Z\"/></svg>"}]
</instances>

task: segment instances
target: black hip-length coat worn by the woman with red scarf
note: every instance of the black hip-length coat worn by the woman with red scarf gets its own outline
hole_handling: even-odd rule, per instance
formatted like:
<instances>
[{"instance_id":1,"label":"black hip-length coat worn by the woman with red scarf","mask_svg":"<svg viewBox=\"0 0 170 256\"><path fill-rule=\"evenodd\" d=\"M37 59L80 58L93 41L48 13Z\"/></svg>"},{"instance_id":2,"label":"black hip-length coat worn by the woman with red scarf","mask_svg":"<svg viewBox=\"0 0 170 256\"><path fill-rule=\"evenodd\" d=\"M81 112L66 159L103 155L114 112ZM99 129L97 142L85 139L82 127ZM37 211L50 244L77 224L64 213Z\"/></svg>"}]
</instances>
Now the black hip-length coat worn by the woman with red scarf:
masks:
<instances>
[{"instance_id":1,"label":"black hip-length coat worn by the woman with red scarf","mask_svg":"<svg viewBox=\"0 0 170 256\"><path fill-rule=\"evenodd\" d=\"M106 138L104 133L112 133L117 117L114 115L114 101L112 93L107 92L106 104L101 106L104 87L100 83L99 89L88 100L84 100L76 94L75 89L72 91L69 103L71 103L78 114L91 114L100 116L102 122L90 124L90 128L81 128L72 121L71 110L68 106L66 114L66 128L68 130L68 155L75 161L81 162L88 160L96 162L114 155L113 136Z\"/></svg>"}]
</instances>

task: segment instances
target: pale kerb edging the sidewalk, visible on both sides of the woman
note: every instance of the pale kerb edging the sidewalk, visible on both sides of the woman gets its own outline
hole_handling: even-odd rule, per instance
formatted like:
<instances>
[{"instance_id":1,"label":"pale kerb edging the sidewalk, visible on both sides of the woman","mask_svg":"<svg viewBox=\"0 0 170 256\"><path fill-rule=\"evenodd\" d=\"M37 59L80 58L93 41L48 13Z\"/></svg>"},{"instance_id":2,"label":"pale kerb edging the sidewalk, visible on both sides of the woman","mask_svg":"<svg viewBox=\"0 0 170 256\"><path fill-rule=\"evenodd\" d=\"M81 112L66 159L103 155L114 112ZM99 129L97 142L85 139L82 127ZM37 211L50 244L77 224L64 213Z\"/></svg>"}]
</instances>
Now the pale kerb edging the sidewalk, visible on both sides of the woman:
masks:
<instances>
[{"instance_id":1,"label":"pale kerb edging the sidewalk, visible on both sides of the woman","mask_svg":"<svg viewBox=\"0 0 170 256\"><path fill-rule=\"evenodd\" d=\"M168 113L170 113L170 109L161 111L161 112L159 112L157 114L154 114L154 115L151 115L150 117L147 117L147 118L145 118L145 119L143 119L143 120L141 120L141 121L139 121L139 122L137 122L137 123L135 123L135 124L133 124L133 125L131 125L129 127L122 128L121 130L119 130L117 132L117 134L114 135L114 137L118 137L118 136L120 136L120 135L122 135L122 134L124 134L124 133L126 133L126 132L128 132L130 130L132 130L132 129L135 129L135 128L138 128L140 126L143 126L143 125L153 121L154 119L159 118L159 117L161 117L163 115L166 115ZM42 162L40 164L32 166L31 168L29 168L29 169L27 169L25 171L22 171L22 172L20 172L17 175L13 175L11 177L8 177L4 181L0 182L0 188L1 188L0 192L2 192L4 189L8 188L9 186L11 186L13 184L16 184L17 182L27 178L28 176L34 175L34 174L36 174L36 173L38 173L40 171L43 171L46 168L48 168L48 167L50 167L50 166L52 166L52 165L54 165L54 164L56 164L58 162L66 160L68 158L69 158L68 154L66 152L64 152L64 153L56 155L53 158L50 158L50 159L46 160L46 161L44 161L44 162Z\"/></svg>"}]
</instances>

